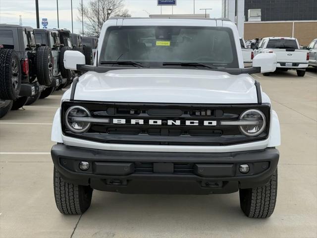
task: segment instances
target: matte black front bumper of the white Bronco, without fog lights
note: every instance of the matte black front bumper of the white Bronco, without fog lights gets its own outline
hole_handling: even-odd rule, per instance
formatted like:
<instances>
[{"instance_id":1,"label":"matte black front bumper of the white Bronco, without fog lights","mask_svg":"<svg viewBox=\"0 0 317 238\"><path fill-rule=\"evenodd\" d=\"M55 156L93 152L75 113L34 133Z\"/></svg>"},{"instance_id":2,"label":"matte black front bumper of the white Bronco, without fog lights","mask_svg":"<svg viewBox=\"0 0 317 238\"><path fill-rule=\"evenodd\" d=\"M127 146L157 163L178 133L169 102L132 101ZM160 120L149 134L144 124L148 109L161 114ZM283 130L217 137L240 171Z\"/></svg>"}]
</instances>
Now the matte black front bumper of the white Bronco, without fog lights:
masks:
<instances>
[{"instance_id":1,"label":"matte black front bumper of the white Bronco, without fog lights","mask_svg":"<svg viewBox=\"0 0 317 238\"><path fill-rule=\"evenodd\" d=\"M262 186L276 170L275 148L232 153L106 151L54 145L53 163L72 183L121 193L210 194ZM88 162L87 171L79 169ZM242 174L241 164L250 171Z\"/></svg>"}]
</instances>

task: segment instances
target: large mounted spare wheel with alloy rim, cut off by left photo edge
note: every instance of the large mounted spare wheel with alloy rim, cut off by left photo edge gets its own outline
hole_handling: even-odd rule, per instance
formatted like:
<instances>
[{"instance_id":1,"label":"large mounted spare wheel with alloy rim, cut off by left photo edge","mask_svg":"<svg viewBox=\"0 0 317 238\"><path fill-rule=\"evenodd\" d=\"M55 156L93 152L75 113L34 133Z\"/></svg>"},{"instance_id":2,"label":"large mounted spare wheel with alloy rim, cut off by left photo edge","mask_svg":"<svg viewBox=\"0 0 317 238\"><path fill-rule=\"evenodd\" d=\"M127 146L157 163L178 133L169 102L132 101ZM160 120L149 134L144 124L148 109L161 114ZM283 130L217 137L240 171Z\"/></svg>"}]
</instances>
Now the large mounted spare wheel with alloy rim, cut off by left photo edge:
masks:
<instances>
[{"instance_id":1,"label":"large mounted spare wheel with alloy rim, cut off by left photo edge","mask_svg":"<svg viewBox=\"0 0 317 238\"><path fill-rule=\"evenodd\" d=\"M21 64L14 50L0 50L0 99L15 100L21 88Z\"/></svg>"}]
</instances>

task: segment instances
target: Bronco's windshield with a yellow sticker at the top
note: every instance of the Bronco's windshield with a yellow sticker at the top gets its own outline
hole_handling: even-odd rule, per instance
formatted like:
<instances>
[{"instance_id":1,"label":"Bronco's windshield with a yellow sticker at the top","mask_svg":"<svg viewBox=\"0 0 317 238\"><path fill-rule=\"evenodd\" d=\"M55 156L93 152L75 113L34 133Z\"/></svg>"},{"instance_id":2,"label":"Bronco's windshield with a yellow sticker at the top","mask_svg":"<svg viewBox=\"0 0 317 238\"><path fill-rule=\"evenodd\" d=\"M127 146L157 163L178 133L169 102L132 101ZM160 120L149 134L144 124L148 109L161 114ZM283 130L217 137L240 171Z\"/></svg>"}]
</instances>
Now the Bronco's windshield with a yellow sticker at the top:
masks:
<instances>
[{"instance_id":1,"label":"Bronco's windshield with a yellow sticker at the top","mask_svg":"<svg viewBox=\"0 0 317 238\"><path fill-rule=\"evenodd\" d=\"M190 26L110 27L102 61L197 62L238 68L236 46L229 28Z\"/></svg>"}]
</instances>

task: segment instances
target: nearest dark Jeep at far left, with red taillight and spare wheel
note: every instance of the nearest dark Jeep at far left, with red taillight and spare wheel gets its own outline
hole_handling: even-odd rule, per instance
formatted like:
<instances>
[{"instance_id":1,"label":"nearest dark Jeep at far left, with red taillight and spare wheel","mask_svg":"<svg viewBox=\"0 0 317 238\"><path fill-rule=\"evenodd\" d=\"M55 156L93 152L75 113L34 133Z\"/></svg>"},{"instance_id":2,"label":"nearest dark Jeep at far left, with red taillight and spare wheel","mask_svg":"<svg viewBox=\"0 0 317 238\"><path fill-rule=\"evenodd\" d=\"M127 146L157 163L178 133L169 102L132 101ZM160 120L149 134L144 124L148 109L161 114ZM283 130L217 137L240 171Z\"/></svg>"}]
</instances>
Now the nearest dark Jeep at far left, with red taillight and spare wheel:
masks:
<instances>
[{"instance_id":1,"label":"nearest dark Jeep at far left, with red taillight and spare wheel","mask_svg":"<svg viewBox=\"0 0 317 238\"><path fill-rule=\"evenodd\" d=\"M0 99L14 100L11 110L53 82L52 50L36 45L32 27L0 24L0 67Z\"/></svg>"}]
</instances>

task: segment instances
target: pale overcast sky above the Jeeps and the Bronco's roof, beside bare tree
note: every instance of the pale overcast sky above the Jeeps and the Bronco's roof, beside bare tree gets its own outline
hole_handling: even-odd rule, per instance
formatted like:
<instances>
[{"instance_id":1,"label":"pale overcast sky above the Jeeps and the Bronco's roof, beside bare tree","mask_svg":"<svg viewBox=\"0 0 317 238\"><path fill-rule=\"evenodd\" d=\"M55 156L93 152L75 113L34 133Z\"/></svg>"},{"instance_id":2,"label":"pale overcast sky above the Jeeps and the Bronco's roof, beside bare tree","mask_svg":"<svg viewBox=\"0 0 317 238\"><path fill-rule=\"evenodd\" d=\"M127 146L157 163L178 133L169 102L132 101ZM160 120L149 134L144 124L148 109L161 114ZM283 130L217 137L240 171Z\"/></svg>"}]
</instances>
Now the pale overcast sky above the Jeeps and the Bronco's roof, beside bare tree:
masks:
<instances>
[{"instance_id":1,"label":"pale overcast sky above the Jeeps and the Bronco's roof, beside bare tree","mask_svg":"<svg viewBox=\"0 0 317 238\"><path fill-rule=\"evenodd\" d=\"M81 29L77 16L77 7L81 0L73 1L74 32ZM84 4L88 0L83 0ZM71 30L71 0L58 0L59 27ZM177 6L173 7L174 14L193 13L194 0L177 0ZM133 17L147 17L150 14L160 14L157 0L125 0L125 7L129 9ZM211 17L221 17L221 0L195 0L197 13L205 13L200 8L212 8L209 10ZM146 11L144 11L146 10ZM49 28L57 28L56 0L39 0L40 21L48 18ZM162 6L162 14L171 14L171 6ZM22 23L25 26L36 28L35 0L0 0L0 23L19 24L19 15L22 15Z\"/></svg>"}]
</instances>

